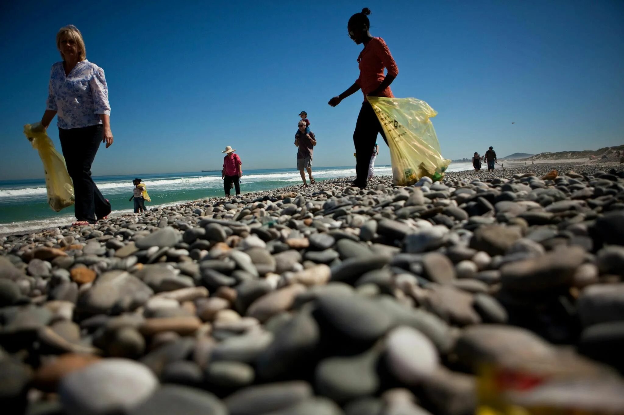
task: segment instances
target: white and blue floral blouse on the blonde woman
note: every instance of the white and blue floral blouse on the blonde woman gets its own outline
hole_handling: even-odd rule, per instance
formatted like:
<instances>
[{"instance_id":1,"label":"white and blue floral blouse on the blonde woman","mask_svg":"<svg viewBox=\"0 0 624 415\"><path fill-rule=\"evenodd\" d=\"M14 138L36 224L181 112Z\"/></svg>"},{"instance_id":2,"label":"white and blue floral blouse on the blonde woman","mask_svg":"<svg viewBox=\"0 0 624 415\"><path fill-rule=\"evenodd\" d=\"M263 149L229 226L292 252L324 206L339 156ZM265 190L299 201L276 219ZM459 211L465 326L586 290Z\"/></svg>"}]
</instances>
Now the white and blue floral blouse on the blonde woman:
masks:
<instances>
[{"instance_id":1,"label":"white and blue floral blouse on the blonde woman","mask_svg":"<svg viewBox=\"0 0 624 415\"><path fill-rule=\"evenodd\" d=\"M101 124L100 114L110 115L104 70L85 59L66 76L63 62L54 63L46 108L57 111L56 125L62 129Z\"/></svg>"}]
</instances>

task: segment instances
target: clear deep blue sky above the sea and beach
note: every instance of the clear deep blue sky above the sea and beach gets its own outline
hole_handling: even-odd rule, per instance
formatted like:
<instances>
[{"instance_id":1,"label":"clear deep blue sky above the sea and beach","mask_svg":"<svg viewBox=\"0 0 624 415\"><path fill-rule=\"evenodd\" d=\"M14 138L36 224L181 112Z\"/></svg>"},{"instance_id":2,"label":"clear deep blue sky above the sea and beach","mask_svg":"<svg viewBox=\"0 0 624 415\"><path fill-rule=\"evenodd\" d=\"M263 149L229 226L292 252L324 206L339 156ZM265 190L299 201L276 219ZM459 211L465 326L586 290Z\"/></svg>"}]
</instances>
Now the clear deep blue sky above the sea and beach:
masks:
<instances>
[{"instance_id":1,"label":"clear deep blue sky above the sea and beach","mask_svg":"<svg viewBox=\"0 0 624 415\"><path fill-rule=\"evenodd\" d=\"M246 169L294 167L301 110L315 166L351 165L362 95L327 101L358 77L346 22L363 6L399 67L394 95L439 112L445 157L624 143L621 0L6 1L0 179L42 177L22 125L41 119L66 24L109 84L115 143L100 147L96 175L220 169L227 145Z\"/></svg>"}]
</instances>

